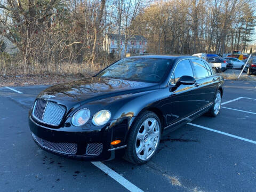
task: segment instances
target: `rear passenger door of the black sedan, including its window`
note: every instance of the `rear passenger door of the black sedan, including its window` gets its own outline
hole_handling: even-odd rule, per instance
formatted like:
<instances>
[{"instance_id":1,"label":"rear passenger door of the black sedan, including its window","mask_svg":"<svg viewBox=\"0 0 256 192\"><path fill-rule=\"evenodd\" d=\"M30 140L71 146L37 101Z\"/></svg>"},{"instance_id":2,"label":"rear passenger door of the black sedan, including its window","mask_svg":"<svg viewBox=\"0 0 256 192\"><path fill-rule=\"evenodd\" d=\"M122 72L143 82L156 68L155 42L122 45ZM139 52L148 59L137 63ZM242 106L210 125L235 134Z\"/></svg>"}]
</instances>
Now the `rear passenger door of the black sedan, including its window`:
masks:
<instances>
[{"instance_id":1,"label":"rear passenger door of the black sedan, including its window","mask_svg":"<svg viewBox=\"0 0 256 192\"><path fill-rule=\"evenodd\" d=\"M195 70L196 82L199 84L198 101L200 108L204 108L213 102L215 90L217 89L217 78L213 76L212 70L203 60L191 59Z\"/></svg>"}]
</instances>

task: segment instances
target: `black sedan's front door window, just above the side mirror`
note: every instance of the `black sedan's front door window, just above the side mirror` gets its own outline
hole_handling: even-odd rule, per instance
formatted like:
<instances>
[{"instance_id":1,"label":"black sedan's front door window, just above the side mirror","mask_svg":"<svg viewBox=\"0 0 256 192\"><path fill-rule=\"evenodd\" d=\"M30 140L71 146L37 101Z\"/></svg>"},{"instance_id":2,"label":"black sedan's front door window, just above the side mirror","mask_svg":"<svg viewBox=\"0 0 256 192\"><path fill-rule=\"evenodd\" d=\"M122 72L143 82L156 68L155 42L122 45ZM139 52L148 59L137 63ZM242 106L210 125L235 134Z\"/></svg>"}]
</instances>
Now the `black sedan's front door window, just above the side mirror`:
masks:
<instances>
[{"instance_id":1,"label":"black sedan's front door window, just above the side mirror","mask_svg":"<svg viewBox=\"0 0 256 192\"><path fill-rule=\"evenodd\" d=\"M188 59L178 62L169 84L177 83L179 78L183 75L194 77L193 70Z\"/></svg>"}]
</instances>

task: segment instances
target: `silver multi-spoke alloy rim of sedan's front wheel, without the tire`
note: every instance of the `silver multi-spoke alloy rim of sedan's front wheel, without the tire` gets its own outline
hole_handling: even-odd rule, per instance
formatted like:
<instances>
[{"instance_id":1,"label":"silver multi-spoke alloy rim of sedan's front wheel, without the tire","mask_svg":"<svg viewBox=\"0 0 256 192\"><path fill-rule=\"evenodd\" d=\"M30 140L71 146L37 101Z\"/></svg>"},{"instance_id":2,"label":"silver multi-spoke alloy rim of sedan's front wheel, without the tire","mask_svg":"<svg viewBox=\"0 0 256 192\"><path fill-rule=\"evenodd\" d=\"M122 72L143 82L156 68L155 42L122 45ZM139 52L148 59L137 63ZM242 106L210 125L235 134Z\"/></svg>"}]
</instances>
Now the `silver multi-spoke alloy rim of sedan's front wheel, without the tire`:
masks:
<instances>
[{"instance_id":1,"label":"silver multi-spoke alloy rim of sedan's front wheel, without the tire","mask_svg":"<svg viewBox=\"0 0 256 192\"><path fill-rule=\"evenodd\" d=\"M137 133L135 150L139 159L146 161L154 153L159 144L160 129L155 118L144 121Z\"/></svg>"}]
</instances>

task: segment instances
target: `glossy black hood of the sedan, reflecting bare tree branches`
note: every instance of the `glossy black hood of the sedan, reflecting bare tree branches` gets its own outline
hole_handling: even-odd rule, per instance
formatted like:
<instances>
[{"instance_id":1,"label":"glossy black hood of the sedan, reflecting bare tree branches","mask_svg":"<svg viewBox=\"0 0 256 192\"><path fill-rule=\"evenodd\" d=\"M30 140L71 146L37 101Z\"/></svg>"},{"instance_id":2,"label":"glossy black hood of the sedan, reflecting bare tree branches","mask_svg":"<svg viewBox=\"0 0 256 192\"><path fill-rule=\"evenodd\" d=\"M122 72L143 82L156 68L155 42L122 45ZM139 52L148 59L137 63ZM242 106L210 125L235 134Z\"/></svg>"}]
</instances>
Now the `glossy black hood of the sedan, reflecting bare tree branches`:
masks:
<instances>
[{"instance_id":1,"label":"glossy black hood of the sedan, reflecting bare tree branches","mask_svg":"<svg viewBox=\"0 0 256 192\"><path fill-rule=\"evenodd\" d=\"M41 92L37 98L55 101L66 106L74 106L75 103L81 105L94 100L147 90L152 86L156 86L156 84L124 79L90 77L51 86Z\"/></svg>"}]
</instances>

